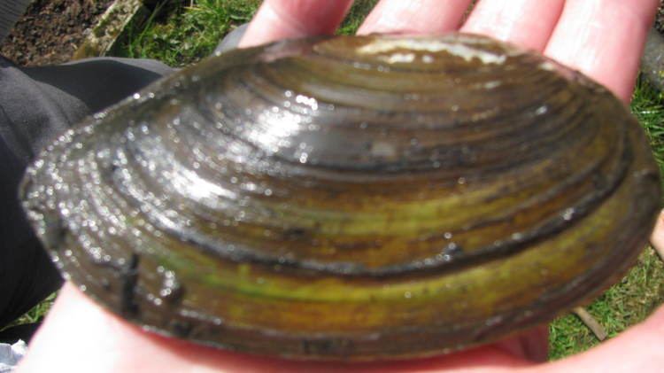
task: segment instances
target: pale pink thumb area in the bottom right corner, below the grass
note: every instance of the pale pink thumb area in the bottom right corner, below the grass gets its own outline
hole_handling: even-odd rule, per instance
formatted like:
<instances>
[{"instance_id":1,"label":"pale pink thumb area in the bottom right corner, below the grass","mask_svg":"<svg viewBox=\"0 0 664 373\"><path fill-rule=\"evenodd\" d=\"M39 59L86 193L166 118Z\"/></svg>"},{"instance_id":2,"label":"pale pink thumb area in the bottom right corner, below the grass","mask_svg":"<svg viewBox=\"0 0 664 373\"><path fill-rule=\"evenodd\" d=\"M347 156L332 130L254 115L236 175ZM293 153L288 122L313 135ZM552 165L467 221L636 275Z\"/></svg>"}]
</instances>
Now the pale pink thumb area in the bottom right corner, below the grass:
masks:
<instances>
[{"instance_id":1,"label":"pale pink thumb area in the bottom right corner, below the grass","mask_svg":"<svg viewBox=\"0 0 664 373\"><path fill-rule=\"evenodd\" d=\"M664 307L645 322L590 351L546 366L553 372L655 372L664 366Z\"/></svg>"}]
</instances>

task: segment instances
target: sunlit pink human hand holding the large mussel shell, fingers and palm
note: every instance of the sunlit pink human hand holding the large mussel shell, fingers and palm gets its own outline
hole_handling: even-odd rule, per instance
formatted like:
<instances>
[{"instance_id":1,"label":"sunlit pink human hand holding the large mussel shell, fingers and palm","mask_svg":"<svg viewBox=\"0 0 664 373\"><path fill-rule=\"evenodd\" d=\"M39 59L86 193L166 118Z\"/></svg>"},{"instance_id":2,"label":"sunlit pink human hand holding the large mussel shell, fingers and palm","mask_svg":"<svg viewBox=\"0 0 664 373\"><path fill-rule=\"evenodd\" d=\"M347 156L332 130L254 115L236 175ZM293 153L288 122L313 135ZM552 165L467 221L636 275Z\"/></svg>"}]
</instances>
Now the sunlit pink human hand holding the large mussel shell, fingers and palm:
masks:
<instances>
[{"instance_id":1,"label":"sunlit pink human hand holding the large mussel shell, fingers and palm","mask_svg":"<svg viewBox=\"0 0 664 373\"><path fill-rule=\"evenodd\" d=\"M469 3L382 0L359 33L452 31L459 28ZM460 29L541 51L603 83L627 102L657 4L657 0L482 0ZM350 5L349 0L266 0L241 46L333 33ZM660 231L664 231L662 225ZM590 352L548 364L531 361L545 356L537 331L422 360L361 364L282 361L151 334L98 307L72 284L66 284L19 371L653 371L664 366L662 332L664 308Z\"/></svg>"}]
</instances>

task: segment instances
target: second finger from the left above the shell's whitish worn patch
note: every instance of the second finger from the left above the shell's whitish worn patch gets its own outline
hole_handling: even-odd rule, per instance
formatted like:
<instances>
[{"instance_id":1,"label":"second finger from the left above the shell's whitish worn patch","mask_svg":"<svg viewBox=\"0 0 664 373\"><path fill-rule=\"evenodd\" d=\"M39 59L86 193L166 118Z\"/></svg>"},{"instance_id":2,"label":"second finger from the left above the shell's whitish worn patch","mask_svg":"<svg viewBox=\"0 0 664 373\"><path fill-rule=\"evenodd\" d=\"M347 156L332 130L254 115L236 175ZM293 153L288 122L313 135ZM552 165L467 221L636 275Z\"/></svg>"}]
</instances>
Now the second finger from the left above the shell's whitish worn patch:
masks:
<instances>
[{"instance_id":1,"label":"second finger from the left above the shell's whitish worn patch","mask_svg":"<svg viewBox=\"0 0 664 373\"><path fill-rule=\"evenodd\" d=\"M459 28L470 0L381 0L358 34L440 34Z\"/></svg>"}]
</instances>

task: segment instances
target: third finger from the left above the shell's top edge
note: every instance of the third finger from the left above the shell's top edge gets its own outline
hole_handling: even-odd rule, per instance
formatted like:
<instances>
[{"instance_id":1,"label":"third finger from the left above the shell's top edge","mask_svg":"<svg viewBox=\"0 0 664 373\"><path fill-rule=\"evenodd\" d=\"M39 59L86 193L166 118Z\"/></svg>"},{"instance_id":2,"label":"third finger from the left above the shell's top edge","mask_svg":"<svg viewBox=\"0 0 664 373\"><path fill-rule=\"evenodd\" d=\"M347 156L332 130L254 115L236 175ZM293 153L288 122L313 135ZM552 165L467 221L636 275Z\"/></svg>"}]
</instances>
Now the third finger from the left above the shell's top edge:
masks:
<instances>
[{"instance_id":1,"label":"third finger from the left above the shell's top edge","mask_svg":"<svg viewBox=\"0 0 664 373\"><path fill-rule=\"evenodd\" d=\"M544 51L565 0L483 0L461 30Z\"/></svg>"}]
</instances>

